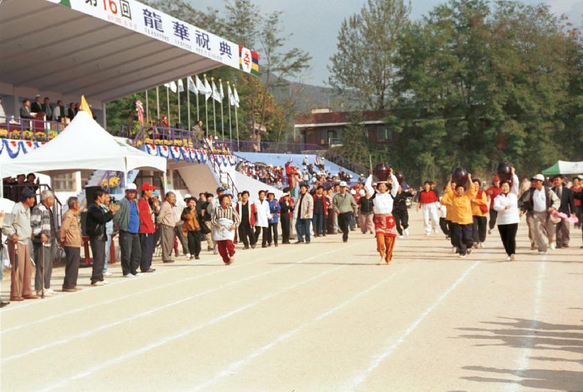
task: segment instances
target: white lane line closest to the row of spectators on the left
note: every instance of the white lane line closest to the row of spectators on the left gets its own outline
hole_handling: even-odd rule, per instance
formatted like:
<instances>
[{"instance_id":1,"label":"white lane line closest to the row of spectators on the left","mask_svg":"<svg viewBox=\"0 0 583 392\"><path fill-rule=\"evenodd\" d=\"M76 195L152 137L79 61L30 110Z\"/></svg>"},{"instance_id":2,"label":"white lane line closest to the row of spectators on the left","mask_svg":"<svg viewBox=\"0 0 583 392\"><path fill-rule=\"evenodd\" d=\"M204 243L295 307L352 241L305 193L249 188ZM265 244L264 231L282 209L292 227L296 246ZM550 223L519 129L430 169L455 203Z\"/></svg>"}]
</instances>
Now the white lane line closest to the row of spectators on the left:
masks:
<instances>
[{"instance_id":1,"label":"white lane line closest to the row of spectators on the left","mask_svg":"<svg viewBox=\"0 0 583 392\"><path fill-rule=\"evenodd\" d=\"M297 250L297 249L298 248L294 248L293 250L291 250L289 252L283 252L282 254L290 254L290 253L293 253L294 250ZM219 270L215 270L213 272L208 272L206 274L197 275L195 277L187 277L187 278L179 279L177 281L172 281L170 283L165 283L165 284L163 284L161 286L155 286L153 288L148 288L146 290L140 290L140 291L132 292L131 294L128 294L128 295L123 295L121 297L115 297L115 298L112 298L112 299L108 299L107 301L96 302L96 303L93 303L93 304L89 304L87 306L82 306L81 308L74 308L74 309L71 309L71 310L66 310L65 312L56 313L54 315L47 316L47 317L44 317L42 319L28 321L28 322L26 322L24 324L21 324L19 326L13 326L11 328L6 328L4 330L0 330L0 335L2 335L4 333L8 333L8 332L15 331L15 330L19 330L19 329L22 329L22 328L28 328L30 326L34 326L36 324L44 323L45 321L50 321L50 320L53 320L53 319L57 319L59 317L66 316L66 315L73 315L73 314L75 314L77 312L82 312L83 310L88 310L88 309L91 309L91 308L96 308L98 306L112 304L114 302L121 301L123 299L128 299L128 298L131 298L131 297L136 297L136 295L144 295L147 292L153 292L153 291L156 291L156 290L161 290L163 288L168 288L170 286L176 286L179 283L184 283L184 282L187 282L187 281L196 281L198 279L201 279L201 278L204 278L204 277L208 277L210 275L219 274L219 273L222 273L222 272L228 272L228 271L235 270L235 268L240 268L240 267L243 267L243 266L246 266L246 265L251 265L251 264L259 263L260 261L267 261L267 260L270 260L270 259L279 258L279 257L282 256L282 254L274 254L273 256L266 257L265 259L256 259L254 261L244 261L243 263L238 263L238 264L235 264L235 265L231 265L228 268L224 268L224 265L217 264L217 268L220 268L220 269ZM221 260L221 262L222 262L222 260ZM195 265L186 265L184 267L178 268L178 270L180 270L182 268L186 268L186 267L191 267L191 266L195 266ZM92 288L90 290L92 290Z\"/></svg>"}]
</instances>

